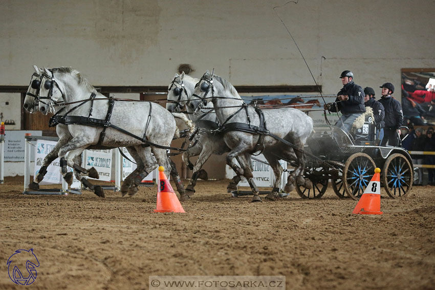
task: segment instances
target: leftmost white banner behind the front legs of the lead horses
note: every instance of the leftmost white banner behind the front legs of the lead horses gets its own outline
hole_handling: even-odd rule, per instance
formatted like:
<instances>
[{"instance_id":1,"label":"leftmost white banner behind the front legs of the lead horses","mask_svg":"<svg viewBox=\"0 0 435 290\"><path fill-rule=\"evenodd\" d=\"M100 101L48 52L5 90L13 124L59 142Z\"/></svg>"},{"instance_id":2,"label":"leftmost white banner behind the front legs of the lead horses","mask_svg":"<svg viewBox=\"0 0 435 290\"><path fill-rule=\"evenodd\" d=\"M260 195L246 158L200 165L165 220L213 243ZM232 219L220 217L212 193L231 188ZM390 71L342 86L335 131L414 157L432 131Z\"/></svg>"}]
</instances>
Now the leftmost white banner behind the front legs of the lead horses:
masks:
<instances>
[{"instance_id":1,"label":"leftmost white banner behind the front legs of the lead horses","mask_svg":"<svg viewBox=\"0 0 435 290\"><path fill-rule=\"evenodd\" d=\"M44 159L46 158L47 154L53 150L54 146L56 146L56 141L47 141L47 140L38 140L36 142L36 148L35 148L35 168L34 168L34 175L38 174L39 170L42 167L42 163L44 162ZM47 167L47 174L44 176L44 180L42 180L39 184L61 184L62 183L62 174L60 173L60 162L59 158L56 158L48 167ZM73 171L72 168L67 167L69 171ZM74 176L74 175L73 175ZM76 177L73 177L73 184L71 185L71 188L80 188L80 182L76 179Z\"/></svg>"}]
</instances>

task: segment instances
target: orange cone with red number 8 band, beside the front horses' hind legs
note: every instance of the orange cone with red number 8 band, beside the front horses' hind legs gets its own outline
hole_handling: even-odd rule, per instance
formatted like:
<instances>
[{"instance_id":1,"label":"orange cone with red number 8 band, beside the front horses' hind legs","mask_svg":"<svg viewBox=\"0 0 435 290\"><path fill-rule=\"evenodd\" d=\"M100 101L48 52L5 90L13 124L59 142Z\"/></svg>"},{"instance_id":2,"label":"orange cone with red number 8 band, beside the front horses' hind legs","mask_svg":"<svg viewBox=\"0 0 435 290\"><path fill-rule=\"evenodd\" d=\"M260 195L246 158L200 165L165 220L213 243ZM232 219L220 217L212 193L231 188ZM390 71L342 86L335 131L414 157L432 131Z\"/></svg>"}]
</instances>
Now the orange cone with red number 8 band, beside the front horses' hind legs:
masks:
<instances>
[{"instance_id":1,"label":"orange cone with red number 8 band, beside the front horses' hind legs","mask_svg":"<svg viewBox=\"0 0 435 290\"><path fill-rule=\"evenodd\" d=\"M177 198L175 192L173 192L163 166L159 167L159 183L157 191L157 209L154 212L185 212Z\"/></svg>"}]
</instances>

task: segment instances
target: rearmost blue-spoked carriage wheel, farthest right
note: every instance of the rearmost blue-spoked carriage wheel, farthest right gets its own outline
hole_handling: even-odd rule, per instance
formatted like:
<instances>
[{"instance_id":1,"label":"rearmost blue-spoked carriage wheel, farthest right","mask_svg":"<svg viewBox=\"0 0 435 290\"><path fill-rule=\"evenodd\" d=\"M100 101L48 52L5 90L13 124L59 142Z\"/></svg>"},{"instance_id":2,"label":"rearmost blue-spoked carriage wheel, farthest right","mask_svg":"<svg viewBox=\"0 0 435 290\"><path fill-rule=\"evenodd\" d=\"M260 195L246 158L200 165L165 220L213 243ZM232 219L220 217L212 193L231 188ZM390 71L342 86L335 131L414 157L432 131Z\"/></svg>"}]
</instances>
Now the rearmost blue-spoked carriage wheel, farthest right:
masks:
<instances>
[{"instance_id":1,"label":"rearmost blue-spoked carriage wheel, farthest right","mask_svg":"<svg viewBox=\"0 0 435 290\"><path fill-rule=\"evenodd\" d=\"M411 164L400 153L392 154L384 164L382 182L390 197L397 198L405 195L412 188L414 174Z\"/></svg>"}]
</instances>

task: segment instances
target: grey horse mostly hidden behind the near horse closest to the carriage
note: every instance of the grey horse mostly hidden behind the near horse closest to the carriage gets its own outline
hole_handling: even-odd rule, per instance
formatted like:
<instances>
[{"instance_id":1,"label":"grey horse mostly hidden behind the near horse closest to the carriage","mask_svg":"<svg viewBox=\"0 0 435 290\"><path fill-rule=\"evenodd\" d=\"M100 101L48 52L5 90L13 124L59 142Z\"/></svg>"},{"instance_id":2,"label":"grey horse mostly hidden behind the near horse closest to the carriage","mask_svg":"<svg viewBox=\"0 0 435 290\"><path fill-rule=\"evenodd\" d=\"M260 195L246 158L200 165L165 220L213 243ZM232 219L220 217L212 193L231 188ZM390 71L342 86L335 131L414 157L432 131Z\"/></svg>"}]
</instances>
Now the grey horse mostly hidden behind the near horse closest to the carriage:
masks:
<instances>
[{"instance_id":1,"label":"grey horse mostly hidden behind the near horse closest to the carriage","mask_svg":"<svg viewBox=\"0 0 435 290\"><path fill-rule=\"evenodd\" d=\"M178 112L184 105L189 103L189 100L195 89L199 79L192 78L185 75L184 72L181 75L175 74L172 82L168 86L168 102L166 109L170 112ZM204 163L210 158L211 154L221 155L225 152L229 152L230 149L225 144L222 135L220 133L211 133L210 130L217 129L218 121L214 112L207 114L207 112L213 107L210 102L206 107L203 107L203 113L200 116L193 116L193 109L190 106L186 106L186 110L189 118L192 119L195 127L201 128L198 135L192 140L193 146L189 147L187 151L183 152L183 162L193 169L192 179L189 185L186 187L187 196L182 196L183 199L187 199L189 195L193 195L194 187L197 184L197 179L206 179L206 172L201 170ZM189 158L199 155L199 158L195 165L190 163ZM236 189L236 188L233 188Z\"/></svg>"}]
</instances>

